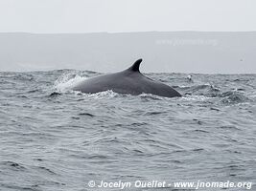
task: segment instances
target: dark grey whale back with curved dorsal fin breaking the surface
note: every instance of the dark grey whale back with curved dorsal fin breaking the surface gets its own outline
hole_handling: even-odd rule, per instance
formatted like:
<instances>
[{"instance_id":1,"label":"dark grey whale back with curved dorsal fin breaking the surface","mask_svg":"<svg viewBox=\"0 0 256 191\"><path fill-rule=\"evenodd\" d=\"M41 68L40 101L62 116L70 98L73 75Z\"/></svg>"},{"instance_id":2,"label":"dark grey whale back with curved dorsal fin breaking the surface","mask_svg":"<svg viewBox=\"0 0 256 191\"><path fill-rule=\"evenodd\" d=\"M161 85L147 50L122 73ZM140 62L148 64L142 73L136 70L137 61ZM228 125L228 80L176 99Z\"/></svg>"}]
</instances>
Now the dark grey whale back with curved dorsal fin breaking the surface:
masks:
<instances>
[{"instance_id":1,"label":"dark grey whale back with curved dorsal fin breaking the surface","mask_svg":"<svg viewBox=\"0 0 256 191\"><path fill-rule=\"evenodd\" d=\"M142 59L135 61L127 70L114 74L100 74L82 80L72 87L73 91L96 94L113 91L122 95L138 96L151 94L156 96L181 96L174 88L140 73Z\"/></svg>"}]
</instances>

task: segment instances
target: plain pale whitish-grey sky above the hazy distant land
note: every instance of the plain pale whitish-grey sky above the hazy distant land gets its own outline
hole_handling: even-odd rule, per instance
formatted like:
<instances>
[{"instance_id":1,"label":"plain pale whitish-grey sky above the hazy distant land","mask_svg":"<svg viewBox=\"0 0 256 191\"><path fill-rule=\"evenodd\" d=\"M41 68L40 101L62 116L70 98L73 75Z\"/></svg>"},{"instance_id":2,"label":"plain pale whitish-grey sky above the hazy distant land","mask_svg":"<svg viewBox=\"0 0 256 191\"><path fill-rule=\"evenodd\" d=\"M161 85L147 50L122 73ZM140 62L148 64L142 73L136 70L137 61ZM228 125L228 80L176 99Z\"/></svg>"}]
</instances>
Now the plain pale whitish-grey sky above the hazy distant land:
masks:
<instances>
[{"instance_id":1,"label":"plain pale whitish-grey sky above the hazy distant land","mask_svg":"<svg viewBox=\"0 0 256 191\"><path fill-rule=\"evenodd\" d=\"M255 0L0 0L0 32L238 32L255 18Z\"/></svg>"}]
</instances>

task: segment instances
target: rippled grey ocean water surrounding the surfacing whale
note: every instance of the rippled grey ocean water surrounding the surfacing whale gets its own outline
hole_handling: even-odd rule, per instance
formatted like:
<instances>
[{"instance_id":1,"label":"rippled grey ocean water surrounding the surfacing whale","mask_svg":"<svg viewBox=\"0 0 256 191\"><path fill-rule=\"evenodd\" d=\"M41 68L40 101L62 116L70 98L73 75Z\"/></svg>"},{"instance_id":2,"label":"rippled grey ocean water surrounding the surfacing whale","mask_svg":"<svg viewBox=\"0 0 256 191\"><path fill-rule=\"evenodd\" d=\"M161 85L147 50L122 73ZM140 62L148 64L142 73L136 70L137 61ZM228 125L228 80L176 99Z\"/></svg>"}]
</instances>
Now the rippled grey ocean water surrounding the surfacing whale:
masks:
<instances>
[{"instance_id":1,"label":"rippled grey ocean water surrounding the surfacing whale","mask_svg":"<svg viewBox=\"0 0 256 191\"><path fill-rule=\"evenodd\" d=\"M0 73L1 191L121 190L99 188L101 180L256 182L256 74L146 74L182 94L174 98L70 90L96 74ZM158 189L180 190L126 188Z\"/></svg>"}]
</instances>

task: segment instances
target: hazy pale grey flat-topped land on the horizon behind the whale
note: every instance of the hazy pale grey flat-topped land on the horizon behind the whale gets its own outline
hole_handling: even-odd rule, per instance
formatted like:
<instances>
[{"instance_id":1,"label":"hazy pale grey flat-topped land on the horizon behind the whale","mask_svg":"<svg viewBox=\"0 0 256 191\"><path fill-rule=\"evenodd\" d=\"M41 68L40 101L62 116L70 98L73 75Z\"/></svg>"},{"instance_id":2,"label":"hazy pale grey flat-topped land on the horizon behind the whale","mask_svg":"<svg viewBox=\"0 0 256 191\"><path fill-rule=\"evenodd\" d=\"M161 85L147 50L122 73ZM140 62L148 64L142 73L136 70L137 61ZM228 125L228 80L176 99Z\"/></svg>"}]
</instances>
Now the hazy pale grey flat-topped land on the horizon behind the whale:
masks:
<instances>
[{"instance_id":1,"label":"hazy pale grey flat-topped land on the horizon behind the whale","mask_svg":"<svg viewBox=\"0 0 256 191\"><path fill-rule=\"evenodd\" d=\"M256 74L256 32L0 33L0 71Z\"/></svg>"}]
</instances>

